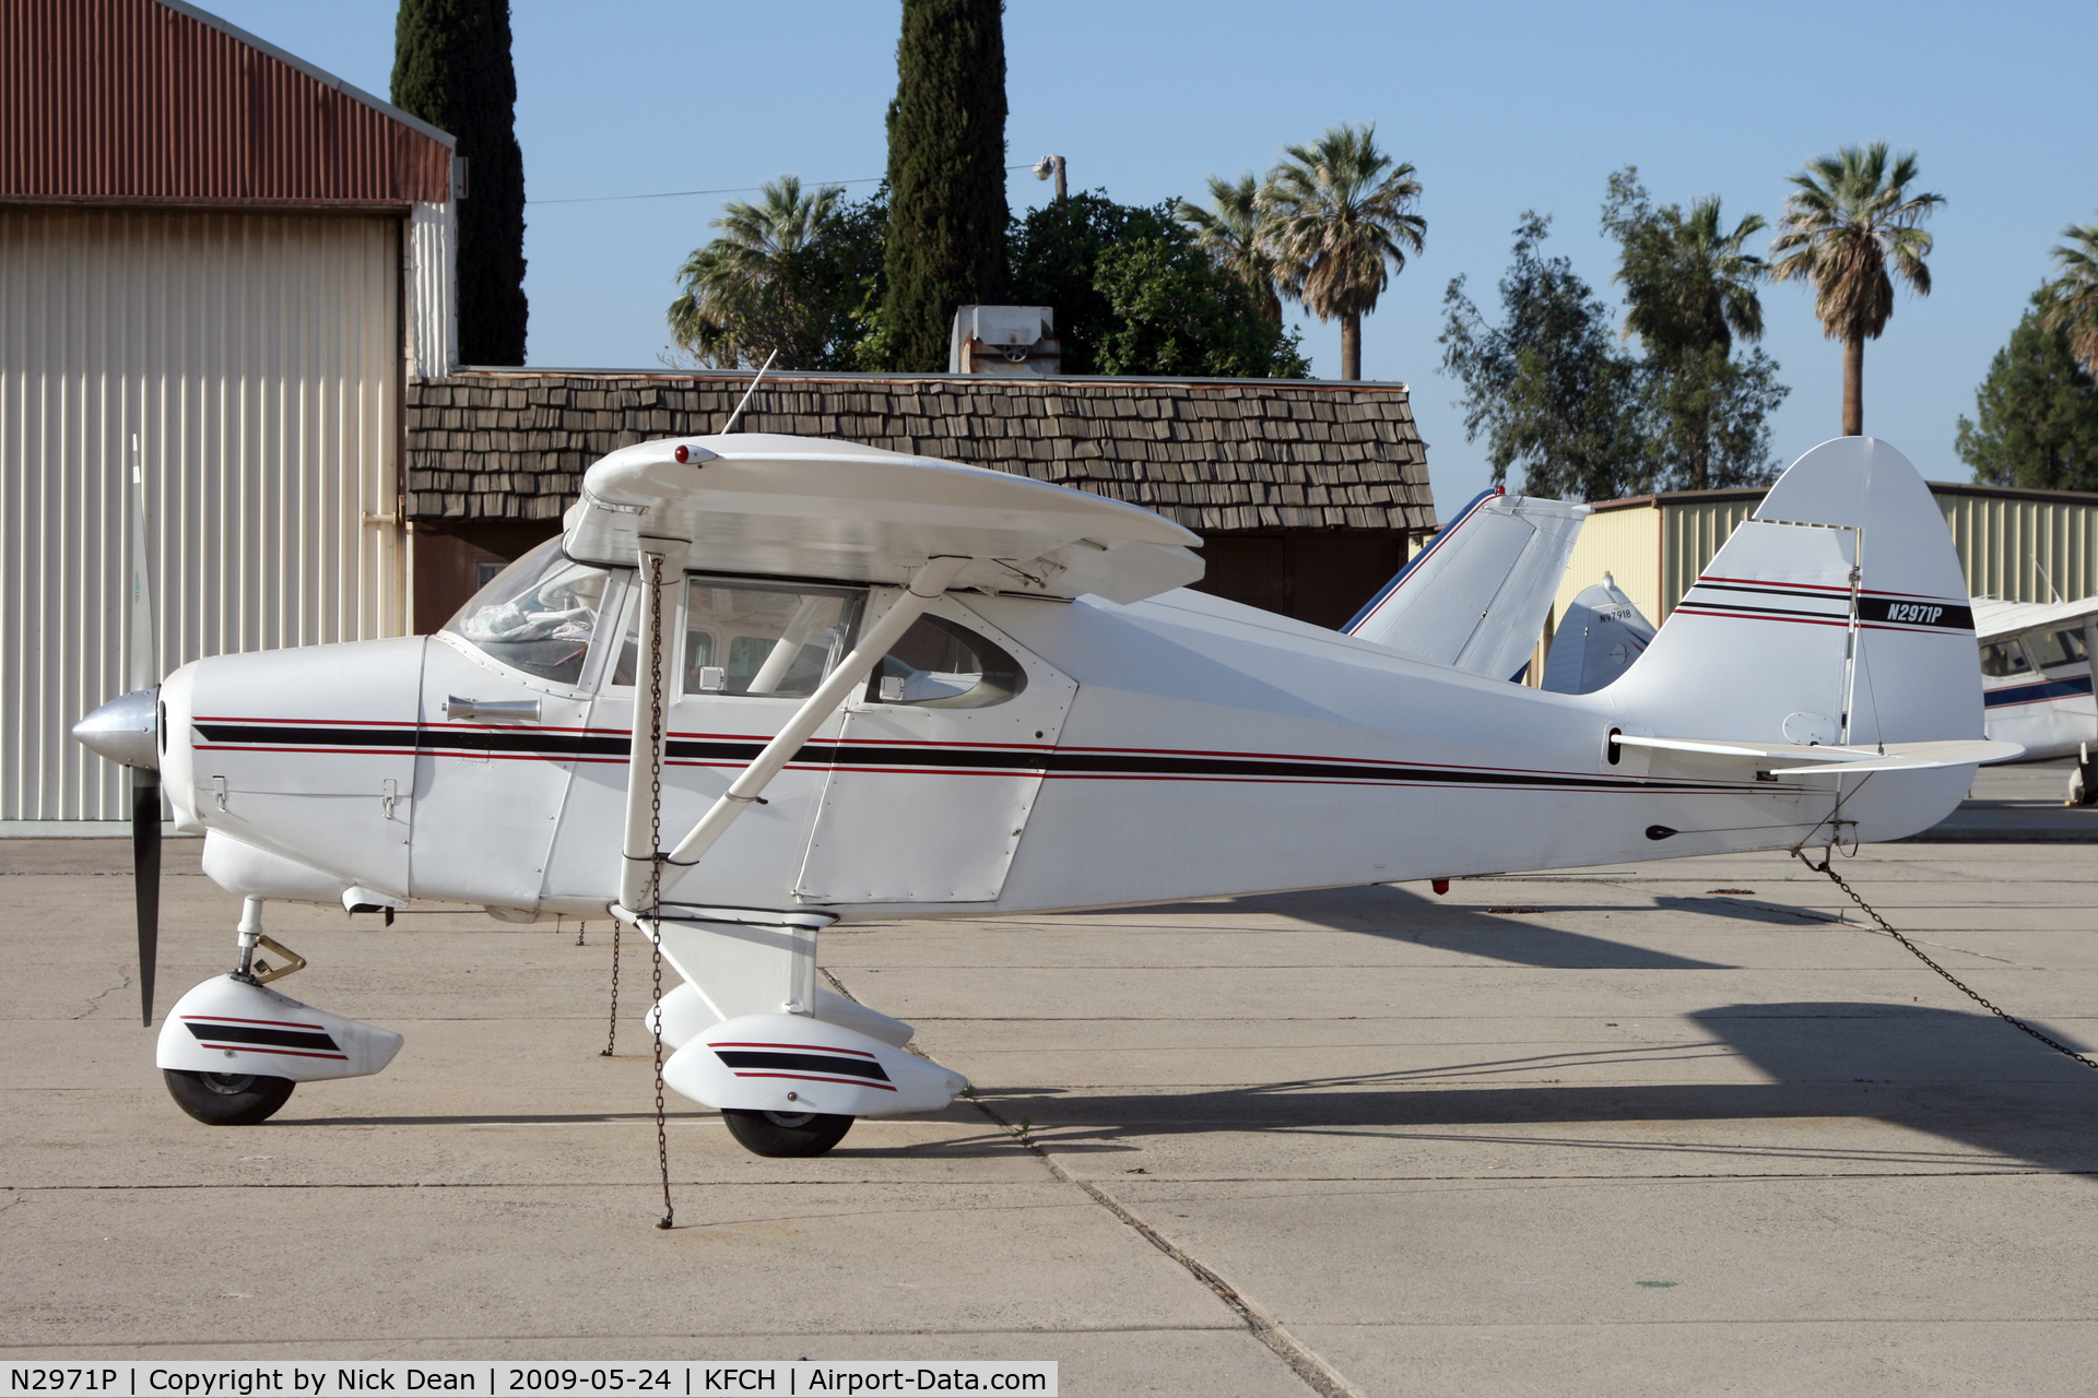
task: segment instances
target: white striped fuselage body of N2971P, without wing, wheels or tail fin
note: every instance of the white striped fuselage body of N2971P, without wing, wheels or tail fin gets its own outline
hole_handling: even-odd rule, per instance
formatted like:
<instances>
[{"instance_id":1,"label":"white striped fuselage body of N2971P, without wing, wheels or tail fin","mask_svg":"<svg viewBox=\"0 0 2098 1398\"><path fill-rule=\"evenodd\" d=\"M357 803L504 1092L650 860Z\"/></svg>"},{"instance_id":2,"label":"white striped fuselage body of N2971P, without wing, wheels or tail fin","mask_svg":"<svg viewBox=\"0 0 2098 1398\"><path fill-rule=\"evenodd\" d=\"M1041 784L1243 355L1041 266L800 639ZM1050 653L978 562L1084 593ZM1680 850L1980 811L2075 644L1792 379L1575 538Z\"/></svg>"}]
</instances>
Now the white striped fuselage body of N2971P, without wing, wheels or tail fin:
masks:
<instances>
[{"instance_id":1,"label":"white striped fuselage body of N2971P, without wing, wheels or tail fin","mask_svg":"<svg viewBox=\"0 0 2098 1398\"><path fill-rule=\"evenodd\" d=\"M180 824L319 872L313 897L334 880L602 914L650 673L669 849L894 597L692 574L652 664L631 572L587 572L531 631L470 604L434 637L185 667L162 690ZM927 618L669 897L848 918L1118 905L1783 847L1836 803L1834 780L1613 752L1636 685L1546 694L1194 591L950 593ZM1966 782L1882 773L1844 799L1844 838L1926 828Z\"/></svg>"}]
</instances>

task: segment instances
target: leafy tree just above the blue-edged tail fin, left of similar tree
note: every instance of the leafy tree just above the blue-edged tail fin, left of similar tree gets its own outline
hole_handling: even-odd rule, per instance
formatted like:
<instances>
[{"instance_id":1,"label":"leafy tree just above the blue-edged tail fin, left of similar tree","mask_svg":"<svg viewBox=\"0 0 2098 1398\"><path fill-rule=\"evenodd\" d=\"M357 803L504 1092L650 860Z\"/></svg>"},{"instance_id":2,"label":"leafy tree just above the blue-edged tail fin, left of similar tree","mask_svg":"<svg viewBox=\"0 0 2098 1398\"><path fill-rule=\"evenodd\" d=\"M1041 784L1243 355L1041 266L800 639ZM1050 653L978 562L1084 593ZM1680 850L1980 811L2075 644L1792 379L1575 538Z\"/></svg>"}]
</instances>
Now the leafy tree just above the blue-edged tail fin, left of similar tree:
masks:
<instances>
[{"instance_id":1,"label":"leafy tree just above the blue-edged tail fin, left of similar tree","mask_svg":"<svg viewBox=\"0 0 2098 1398\"><path fill-rule=\"evenodd\" d=\"M1574 264L1542 254L1548 231L1536 212L1517 224L1500 325L1485 323L1462 277L1443 293L1443 373L1464 384L1464 440L1487 438L1496 484L1521 465L1529 495L1634 495L1649 480L1639 365Z\"/></svg>"}]
</instances>

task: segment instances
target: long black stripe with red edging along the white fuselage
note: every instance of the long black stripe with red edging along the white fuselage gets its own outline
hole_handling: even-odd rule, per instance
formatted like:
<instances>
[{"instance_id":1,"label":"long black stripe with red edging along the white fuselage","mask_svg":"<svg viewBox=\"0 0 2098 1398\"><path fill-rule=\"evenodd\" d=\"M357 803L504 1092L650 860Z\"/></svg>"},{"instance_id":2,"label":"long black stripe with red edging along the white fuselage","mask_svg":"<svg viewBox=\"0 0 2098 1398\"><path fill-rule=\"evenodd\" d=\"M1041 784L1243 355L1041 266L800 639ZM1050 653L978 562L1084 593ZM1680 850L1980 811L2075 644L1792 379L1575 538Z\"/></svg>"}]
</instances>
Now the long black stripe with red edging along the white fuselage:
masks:
<instances>
[{"instance_id":1,"label":"long black stripe with red edging along the white fuselage","mask_svg":"<svg viewBox=\"0 0 2098 1398\"><path fill-rule=\"evenodd\" d=\"M197 723L199 736L218 746L350 748L407 746L413 729L292 727L266 723ZM376 736L384 734L384 738ZM671 763L749 763L764 740L671 738ZM453 729L422 731L420 748L432 755L489 752L543 761L625 759L629 738L604 731ZM1070 778L1129 780L1240 780L1240 782L1374 782L1393 786L1529 786L1557 790L1735 790L1746 782L1695 782L1571 771L1511 771L1492 767L1410 767L1351 763L1347 759L1263 757L1253 752L1097 752L1085 748L971 748L938 744L810 742L793 757L801 765L896 771L999 771ZM1762 790L1762 788L1758 788Z\"/></svg>"}]
</instances>

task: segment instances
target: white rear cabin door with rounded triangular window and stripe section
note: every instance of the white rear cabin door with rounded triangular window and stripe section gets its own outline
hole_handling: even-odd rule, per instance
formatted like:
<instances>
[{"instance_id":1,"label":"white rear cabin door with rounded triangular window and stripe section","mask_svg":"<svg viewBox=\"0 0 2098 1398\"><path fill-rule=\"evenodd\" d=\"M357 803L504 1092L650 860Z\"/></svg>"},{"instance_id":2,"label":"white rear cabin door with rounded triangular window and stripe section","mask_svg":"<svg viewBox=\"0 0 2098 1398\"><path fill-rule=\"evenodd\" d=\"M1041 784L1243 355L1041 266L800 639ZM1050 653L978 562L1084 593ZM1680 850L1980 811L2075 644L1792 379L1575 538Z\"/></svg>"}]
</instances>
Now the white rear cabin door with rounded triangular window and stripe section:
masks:
<instances>
[{"instance_id":1,"label":"white rear cabin door with rounded triangular window and stripe section","mask_svg":"<svg viewBox=\"0 0 2098 1398\"><path fill-rule=\"evenodd\" d=\"M896 595L875 589L869 616ZM795 897L994 901L1076 692L952 597L934 602L845 706Z\"/></svg>"}]
</instances>

